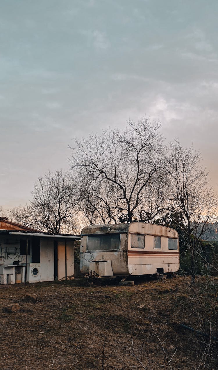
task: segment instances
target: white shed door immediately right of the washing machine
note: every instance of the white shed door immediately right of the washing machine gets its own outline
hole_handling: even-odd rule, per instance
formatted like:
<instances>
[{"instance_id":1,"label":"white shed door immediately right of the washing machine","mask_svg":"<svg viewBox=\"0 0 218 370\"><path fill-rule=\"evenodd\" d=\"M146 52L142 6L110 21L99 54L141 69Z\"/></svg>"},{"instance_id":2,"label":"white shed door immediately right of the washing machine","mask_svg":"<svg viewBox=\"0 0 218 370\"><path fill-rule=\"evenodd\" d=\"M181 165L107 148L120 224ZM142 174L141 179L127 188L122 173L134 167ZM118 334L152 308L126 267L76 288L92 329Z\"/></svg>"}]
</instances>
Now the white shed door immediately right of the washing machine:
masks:
<instances>
[{"instance_id":1,"label":"white shed door immediately right of the washing machine","mask_svg":"<svg viewBox=\"0 0 218 370\"><path fill-rule=\"evenodd\" d=\"M54 241L41 239L40 243L41 280L54 280Z\"/></svg>"}]
</instances>

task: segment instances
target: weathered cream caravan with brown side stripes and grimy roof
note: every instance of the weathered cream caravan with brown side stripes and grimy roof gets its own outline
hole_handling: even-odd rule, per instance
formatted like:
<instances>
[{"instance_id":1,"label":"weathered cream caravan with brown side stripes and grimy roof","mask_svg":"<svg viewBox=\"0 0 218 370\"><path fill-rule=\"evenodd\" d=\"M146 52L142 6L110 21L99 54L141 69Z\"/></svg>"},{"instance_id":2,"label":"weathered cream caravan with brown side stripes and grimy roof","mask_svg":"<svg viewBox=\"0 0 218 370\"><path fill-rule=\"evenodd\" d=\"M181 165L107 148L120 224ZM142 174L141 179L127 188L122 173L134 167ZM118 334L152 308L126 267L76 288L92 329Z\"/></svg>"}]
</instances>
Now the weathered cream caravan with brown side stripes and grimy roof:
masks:
<instances>
[{"instance_id":1,"label":"weathered cream caravan with brown side stripes and grimy roof","mask_svg":"<svg viewBox=\"0 0 218 370\"><path fill-rule=\"evenodd\" d=\"M80 270L96 277L176 272L178 233L141 222L86 226L81 234Z\"/></svg>"}]
</instances>

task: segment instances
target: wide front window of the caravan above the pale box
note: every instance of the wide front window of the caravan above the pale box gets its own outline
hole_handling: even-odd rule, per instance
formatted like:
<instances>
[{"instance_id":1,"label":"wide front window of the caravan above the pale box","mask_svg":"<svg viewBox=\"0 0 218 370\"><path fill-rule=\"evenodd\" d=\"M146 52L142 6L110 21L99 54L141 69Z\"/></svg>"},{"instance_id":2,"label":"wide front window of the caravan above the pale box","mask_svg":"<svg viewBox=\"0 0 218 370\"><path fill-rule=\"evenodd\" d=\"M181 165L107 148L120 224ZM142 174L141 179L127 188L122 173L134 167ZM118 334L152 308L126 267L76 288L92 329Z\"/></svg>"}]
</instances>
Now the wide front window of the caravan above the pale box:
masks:
<instances>
[{"instance_id":1,"label":"wide front window of the caravan above the pale box","mask_svg":"<svg viewBox=\"0 0 218 370\"><path fill-rule=\"evenodd\" d=\"M118 250L120 249L120 234L89 235L87 250Z\"/></svg>"}]
</instances>

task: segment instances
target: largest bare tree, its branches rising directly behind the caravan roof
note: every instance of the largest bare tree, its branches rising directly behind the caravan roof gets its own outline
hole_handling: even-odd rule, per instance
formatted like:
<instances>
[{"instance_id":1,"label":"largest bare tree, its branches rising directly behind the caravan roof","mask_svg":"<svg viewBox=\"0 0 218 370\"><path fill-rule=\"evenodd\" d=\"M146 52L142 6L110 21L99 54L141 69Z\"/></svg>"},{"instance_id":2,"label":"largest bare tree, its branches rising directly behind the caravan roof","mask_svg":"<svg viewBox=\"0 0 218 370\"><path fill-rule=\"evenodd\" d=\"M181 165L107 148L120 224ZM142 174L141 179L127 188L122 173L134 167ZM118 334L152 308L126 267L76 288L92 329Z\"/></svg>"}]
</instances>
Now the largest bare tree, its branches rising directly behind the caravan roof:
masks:
<instances>
[{"instance_id":1,"label":"largest bare tree, its branches rising directly behind the caravan roof","mask_svg":"<svg viewBox=\"0 0 218 370\"><path fill-rule=\"evenodd\" d=\"M96 217L101 223L149 222L164 209L165 146L159 128L159 121L142 118L122 130L75 138L71 168L90 223Z\"/></svg>"}]
</instances>

